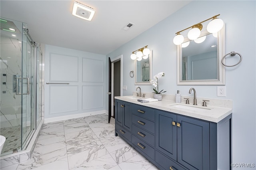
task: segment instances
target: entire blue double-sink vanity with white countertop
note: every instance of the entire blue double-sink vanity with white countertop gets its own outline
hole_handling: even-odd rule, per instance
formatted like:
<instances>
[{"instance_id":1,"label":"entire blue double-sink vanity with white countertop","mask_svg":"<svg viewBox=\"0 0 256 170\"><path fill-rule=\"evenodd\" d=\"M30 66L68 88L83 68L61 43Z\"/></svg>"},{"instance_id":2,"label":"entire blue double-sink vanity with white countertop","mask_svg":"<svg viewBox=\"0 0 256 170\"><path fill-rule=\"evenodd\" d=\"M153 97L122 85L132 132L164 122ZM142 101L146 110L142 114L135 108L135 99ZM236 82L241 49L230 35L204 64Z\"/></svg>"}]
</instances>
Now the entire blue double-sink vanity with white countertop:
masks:
<instances>
[{"instance_id":1,"label":"entire blue double-sink vanity with white countertop","mask_svg":"<svg viewBox=\"0 0 256 170\"><path fill-rule=\"evenodd\" d=\"M115 135L168 170L230 169L232 109L115 97Z\"/></svg>"}]
</instances>

